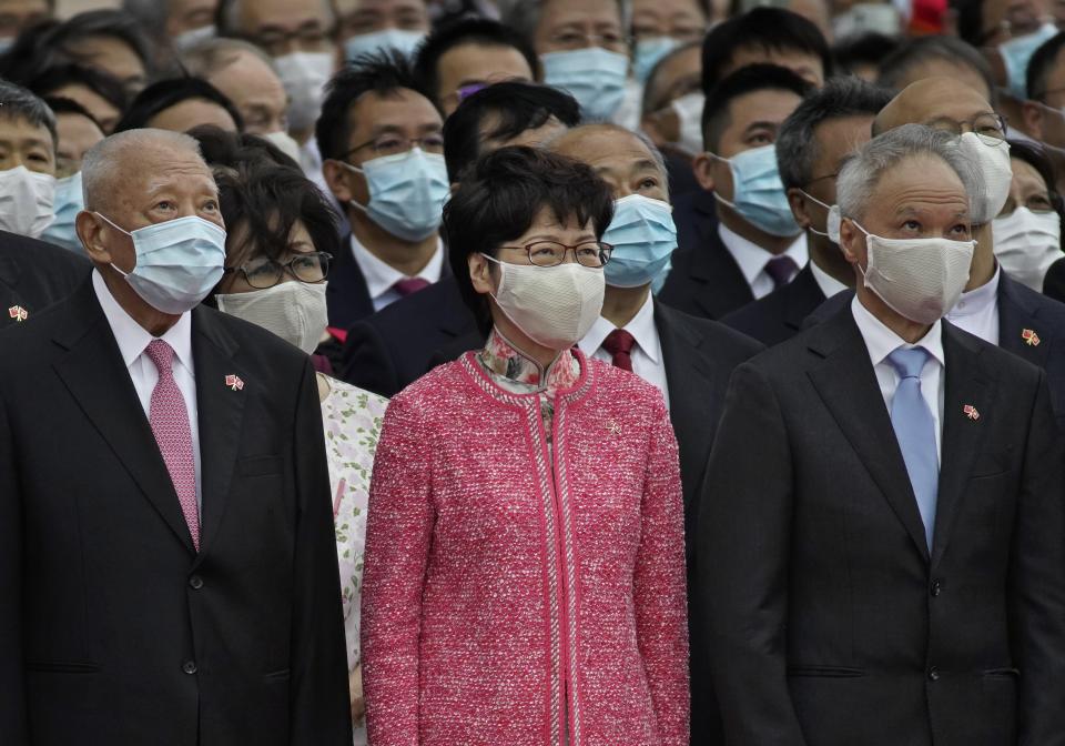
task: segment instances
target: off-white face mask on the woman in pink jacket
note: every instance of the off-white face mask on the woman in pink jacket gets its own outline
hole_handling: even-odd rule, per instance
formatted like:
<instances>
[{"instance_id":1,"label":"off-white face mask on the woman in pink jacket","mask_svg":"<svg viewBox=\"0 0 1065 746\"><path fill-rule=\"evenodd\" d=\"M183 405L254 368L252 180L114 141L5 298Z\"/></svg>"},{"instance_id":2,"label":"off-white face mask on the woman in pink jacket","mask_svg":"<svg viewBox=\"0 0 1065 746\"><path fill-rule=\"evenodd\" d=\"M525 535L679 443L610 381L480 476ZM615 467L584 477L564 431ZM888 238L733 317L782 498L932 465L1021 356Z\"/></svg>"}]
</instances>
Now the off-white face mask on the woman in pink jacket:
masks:
<instances>
[{"instance_id":1,"label":"off-white face mask on the woman in pink jacket","mask_svg":"<svg viewBox=\"0 0 1065 746\"><path fill-rule=\"evenodd\" d=\"M599 268L508 264L481 255L499 265L499 288L493 296L499 310L537 344L550 350L574 346L602 311L607 285Z\"/></svg>"}]
</instances>

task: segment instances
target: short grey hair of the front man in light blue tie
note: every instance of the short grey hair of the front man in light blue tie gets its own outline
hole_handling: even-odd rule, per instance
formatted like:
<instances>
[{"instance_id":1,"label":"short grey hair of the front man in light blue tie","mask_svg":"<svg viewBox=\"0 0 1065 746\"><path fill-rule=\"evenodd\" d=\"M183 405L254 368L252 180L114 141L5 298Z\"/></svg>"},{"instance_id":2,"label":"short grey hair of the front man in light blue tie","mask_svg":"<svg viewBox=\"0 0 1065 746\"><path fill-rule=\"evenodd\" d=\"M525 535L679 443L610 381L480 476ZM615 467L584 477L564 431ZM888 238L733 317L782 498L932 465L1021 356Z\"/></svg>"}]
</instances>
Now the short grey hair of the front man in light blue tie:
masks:
<instances>
[{"instance_id":1,"label":"short grey hair of the front man in light blue tie","mask_svg":"<svg viewBox=\"0 0 1065 746\"><path fill-rule=\"evenodd\" d=\"M962 180L970 203L982 196L977 168L963 154L956 134L924 124L903 124L873 138L848 157L835 182L840 213L864 220L883 175L906 159L920 155L939 158L951 167Z\"/></svg>"}]
</instances>

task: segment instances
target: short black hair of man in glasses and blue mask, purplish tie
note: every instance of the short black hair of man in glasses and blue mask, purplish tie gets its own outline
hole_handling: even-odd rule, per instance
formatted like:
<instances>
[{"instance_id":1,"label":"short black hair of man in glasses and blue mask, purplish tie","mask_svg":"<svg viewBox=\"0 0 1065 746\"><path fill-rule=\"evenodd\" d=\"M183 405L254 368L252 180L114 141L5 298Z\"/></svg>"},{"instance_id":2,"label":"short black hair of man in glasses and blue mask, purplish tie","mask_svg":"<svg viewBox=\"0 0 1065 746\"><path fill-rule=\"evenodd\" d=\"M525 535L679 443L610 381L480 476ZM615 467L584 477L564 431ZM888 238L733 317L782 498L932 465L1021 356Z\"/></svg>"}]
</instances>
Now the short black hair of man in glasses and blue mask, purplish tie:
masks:
<instances>
[{"instance_id":1,"label":"short black hair of man in glasses and blue mask, purplish tie","mask_svg":"<svg viewBox=\"0 0 1065 746\"><path fill-rule=\"evenodd\" d=\"M406 56L395 49L359 54L333 75L325 87L322 113L314 127L322 158L343 160L347 154L347 141L352 137L349 112L364 93L373 91L389 98L402 90L426 95L418 87Z\"/></svg>"}]
</instances>

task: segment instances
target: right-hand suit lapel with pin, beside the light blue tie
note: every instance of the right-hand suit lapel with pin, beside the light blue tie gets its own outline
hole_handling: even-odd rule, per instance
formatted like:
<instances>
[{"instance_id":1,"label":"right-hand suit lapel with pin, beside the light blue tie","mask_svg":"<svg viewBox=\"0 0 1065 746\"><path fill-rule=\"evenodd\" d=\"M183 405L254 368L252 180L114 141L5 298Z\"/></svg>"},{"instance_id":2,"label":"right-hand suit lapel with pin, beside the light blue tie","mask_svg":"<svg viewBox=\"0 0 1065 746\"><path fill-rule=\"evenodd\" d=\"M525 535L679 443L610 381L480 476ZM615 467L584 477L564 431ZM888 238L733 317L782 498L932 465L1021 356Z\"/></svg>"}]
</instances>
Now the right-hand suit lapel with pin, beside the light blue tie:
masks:
<instances>
[{"instance_id":1,"label":"right-hand suit lapel with pin, beside the light blue tie","mask_svg":"<svg viewBox=\"0 0 1065 746\"><path fill-rule=\"evenodd\" d=\"M932 540L933 564L946 550L973 462L988 427L988 419L991 426L994 426L992 386L984 375L980 354L980 346L971 339L958 333L949 322L943 323L946 383L942 416L943 462L940 466L935 533Z\"/></svg>"}]
</instances>

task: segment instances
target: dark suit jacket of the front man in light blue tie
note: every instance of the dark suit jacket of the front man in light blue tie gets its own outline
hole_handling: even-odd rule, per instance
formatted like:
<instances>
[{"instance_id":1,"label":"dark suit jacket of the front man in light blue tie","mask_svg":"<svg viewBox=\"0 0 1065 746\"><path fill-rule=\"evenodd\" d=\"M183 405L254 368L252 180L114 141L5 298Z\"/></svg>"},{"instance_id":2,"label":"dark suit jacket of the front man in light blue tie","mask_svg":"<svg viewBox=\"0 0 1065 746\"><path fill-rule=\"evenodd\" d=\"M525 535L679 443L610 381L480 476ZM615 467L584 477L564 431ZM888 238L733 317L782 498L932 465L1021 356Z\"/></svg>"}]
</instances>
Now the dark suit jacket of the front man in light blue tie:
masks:
<instances>
[{"instance_id":1,"label":"dark suit jacket of the front man in light blue tie","mask_svg":"<svg viewBox=\"0 0 1065 746\"><path fill-rule=\"evenodd\" d=\"M1046 376L949 323L943 347L931 556L850 309L733 374L698 540L730 745L1065 743Z\"/></svg>"}]
</instances>

